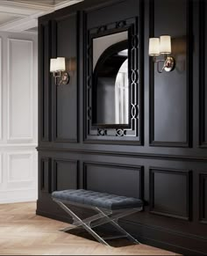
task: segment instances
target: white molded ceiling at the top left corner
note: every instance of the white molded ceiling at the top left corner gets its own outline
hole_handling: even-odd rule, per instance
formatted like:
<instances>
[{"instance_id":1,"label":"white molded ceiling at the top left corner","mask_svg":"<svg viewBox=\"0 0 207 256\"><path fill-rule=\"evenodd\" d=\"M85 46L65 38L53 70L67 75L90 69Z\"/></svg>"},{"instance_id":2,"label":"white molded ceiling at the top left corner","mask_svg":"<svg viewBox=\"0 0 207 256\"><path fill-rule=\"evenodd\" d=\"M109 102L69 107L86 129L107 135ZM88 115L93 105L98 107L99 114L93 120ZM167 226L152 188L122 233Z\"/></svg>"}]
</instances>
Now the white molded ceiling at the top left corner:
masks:
<instances>
[{"instance_id":1,"label":"white molded ceiling at the top left corner","mask_svg":"<svg viewBox=\"0 0 207 256\"><path fill-rule=\"evenodd\" d=\"M83 0L0 0L0 32L37 33L38 18Z\"/></svg>"}]
</instances>

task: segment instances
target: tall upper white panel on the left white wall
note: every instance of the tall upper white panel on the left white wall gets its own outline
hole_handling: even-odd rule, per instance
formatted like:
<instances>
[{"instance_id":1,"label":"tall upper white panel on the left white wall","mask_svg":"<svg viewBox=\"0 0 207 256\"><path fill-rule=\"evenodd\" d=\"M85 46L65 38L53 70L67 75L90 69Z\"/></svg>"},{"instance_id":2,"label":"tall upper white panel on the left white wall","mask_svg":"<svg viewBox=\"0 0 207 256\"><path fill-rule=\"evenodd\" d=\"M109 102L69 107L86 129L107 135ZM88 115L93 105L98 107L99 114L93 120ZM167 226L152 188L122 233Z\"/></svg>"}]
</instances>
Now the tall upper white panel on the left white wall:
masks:
<instances>
[{"instance_id":1,"label":"tall upper white panel on the left white wall","mask_svg":"<svg viewBox=\"0 0 207 256\"><path fill-rule=\"evenodd\" d=\"M32 140L32 40L8 39L8 140Z\"/></svg>"}]
</instances>

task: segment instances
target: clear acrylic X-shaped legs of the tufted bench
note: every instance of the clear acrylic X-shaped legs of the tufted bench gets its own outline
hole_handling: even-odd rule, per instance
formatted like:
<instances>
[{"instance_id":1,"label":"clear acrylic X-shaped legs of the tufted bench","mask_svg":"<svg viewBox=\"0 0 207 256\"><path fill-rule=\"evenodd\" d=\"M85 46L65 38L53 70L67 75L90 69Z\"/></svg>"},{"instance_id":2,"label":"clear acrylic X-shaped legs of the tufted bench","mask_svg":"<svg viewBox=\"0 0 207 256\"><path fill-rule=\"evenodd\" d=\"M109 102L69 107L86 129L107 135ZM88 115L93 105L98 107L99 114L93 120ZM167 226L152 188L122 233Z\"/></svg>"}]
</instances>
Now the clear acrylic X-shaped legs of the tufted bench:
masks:
<instances>
[{"instance_id":1,"label":"clear acrylic X-shaped legs of the tufted bench","mask_svg":"<svg viewBox=\"0 0 207 256\"><path fill-rule=\"evenodd\" d=\"M93 207L85 204L79 204L75 203L73 201L64 201L61 199L53 198L53 200L60 205L62 209L64 209L69 216L73 218L74 227L67 227L64 229L61 229L61 231L68 231L73 230L78 227L82 227L83 229L87 230L89 234L91 234L98 242L100 242L103 245L110 246L105 240L107 239L114 239L114 238L128 238L130 241L132 241L135 244L140 244L139 241L135 238L133 238L128 232L126 232L119 224L118 219L122 218L124 216L132 215L133 213L139 212L142 210L142 207L140 208L123 208L118 210L109 210L105 208L98 208ZM83 208L90 208L97 212L96 215L88 217L86 219L81 219L79 216L75 214L74 211L72 211L70 208L68 208L67 205L74 205L76 207L83 207ZM111 223L113 227L115 227L121 235L119 236L111 236L107 238L101 238L94 230L93 228L96 228L98 226L101 226L105 223Z\"/></svg>"}]
</instances>

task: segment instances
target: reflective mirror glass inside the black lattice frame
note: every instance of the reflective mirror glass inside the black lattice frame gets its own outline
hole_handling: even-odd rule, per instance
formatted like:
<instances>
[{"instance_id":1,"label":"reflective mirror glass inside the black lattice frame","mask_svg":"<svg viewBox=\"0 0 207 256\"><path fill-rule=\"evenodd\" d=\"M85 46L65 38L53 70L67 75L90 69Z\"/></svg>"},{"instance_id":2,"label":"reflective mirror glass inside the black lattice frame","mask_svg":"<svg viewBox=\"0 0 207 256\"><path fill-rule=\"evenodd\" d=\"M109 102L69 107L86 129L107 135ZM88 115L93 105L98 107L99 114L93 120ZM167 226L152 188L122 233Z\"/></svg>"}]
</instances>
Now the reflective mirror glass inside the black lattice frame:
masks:
<instances>
[{"instance_id":1,"label":"reflective mirror glass inside the black lattice frame","mask_svg":"<svg viewBox=\"0 0 207 256\"><path fill-rule=\"evenodd\" d=\"M93 39L93 125L129 125L128 32Z\"/></svg>"}]
</instances>

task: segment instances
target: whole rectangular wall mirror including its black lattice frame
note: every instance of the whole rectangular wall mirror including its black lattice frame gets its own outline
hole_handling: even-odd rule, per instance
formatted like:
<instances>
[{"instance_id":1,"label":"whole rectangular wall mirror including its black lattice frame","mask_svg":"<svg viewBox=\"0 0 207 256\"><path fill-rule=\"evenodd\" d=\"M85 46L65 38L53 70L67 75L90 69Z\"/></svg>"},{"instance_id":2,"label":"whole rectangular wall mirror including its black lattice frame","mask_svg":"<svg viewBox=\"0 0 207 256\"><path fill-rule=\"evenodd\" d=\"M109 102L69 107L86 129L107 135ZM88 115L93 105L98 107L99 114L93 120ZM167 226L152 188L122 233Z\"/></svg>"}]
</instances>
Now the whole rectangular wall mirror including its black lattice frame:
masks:
<instances>
[{"instance_id":1,"label":"whole rectangular wall mirror including its black lattice frame","mask_svg":"<svg viewBox=\"0 0 207 256\"><path fill-rule=\"evenodd\" d=\"M138 18L90 29L87 41L85 141L141 144Z\"/></svg>"}]
</instances>

